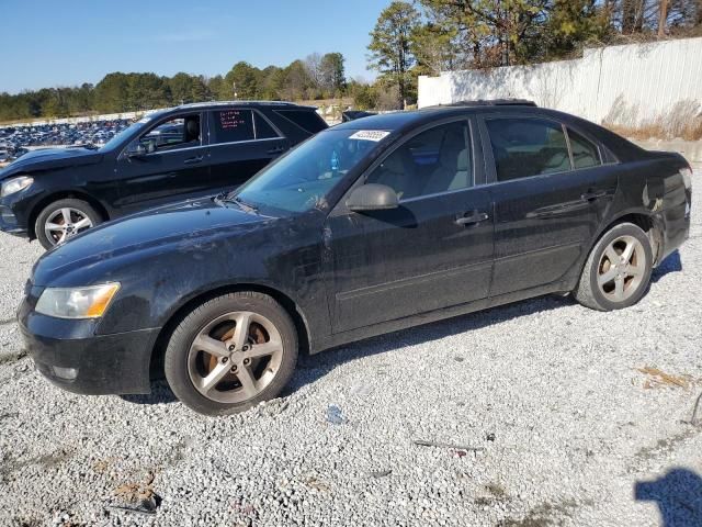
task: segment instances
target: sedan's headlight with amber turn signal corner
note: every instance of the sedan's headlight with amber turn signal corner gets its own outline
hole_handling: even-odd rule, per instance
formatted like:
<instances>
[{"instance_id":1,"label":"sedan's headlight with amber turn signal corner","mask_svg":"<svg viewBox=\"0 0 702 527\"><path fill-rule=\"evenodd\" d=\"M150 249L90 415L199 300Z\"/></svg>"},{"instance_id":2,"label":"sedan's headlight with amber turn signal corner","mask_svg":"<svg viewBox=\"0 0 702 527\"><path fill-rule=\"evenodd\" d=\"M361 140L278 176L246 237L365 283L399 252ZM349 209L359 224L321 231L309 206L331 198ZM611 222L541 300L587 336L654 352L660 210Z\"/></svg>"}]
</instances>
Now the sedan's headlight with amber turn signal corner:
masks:
<instances>
[{"instance_id":1,"label":"sedan's headlight with amber turn signal corner","mask_svg":"<svg viewBox=\"0 0 702 527\"><path fill-rule=\"evenodd\" d=\"M118 283L89 288L46 288L35 311L58 318L99 318L120 289Z\"/></svg>"}]
</instances>

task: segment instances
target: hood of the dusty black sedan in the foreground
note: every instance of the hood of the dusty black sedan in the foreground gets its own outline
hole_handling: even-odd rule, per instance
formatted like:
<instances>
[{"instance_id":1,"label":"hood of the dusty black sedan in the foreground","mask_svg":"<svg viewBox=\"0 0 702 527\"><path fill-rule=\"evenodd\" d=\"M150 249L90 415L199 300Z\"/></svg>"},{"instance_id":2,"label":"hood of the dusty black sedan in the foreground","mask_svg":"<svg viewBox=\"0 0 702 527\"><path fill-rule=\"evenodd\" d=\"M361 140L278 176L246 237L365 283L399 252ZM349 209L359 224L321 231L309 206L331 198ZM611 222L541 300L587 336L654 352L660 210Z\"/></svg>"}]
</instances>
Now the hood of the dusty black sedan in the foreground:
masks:
<instances>
[{"instance_id":1,"label":"hood of the dusty black sedan in the foreground","mask_svg":"<svg viewBox=\"0 0 702 527\"><path fill-rule=\"evenodd\" d=\"M42 287L72 285L69 282L76 270L90 281L91 268L107 259L197 250L217 238L230 238L275 221L234 204L223 206L212 198L173 203L91 228L49 250L35 264L32 281Z\"/></svg>"}]
</instances>

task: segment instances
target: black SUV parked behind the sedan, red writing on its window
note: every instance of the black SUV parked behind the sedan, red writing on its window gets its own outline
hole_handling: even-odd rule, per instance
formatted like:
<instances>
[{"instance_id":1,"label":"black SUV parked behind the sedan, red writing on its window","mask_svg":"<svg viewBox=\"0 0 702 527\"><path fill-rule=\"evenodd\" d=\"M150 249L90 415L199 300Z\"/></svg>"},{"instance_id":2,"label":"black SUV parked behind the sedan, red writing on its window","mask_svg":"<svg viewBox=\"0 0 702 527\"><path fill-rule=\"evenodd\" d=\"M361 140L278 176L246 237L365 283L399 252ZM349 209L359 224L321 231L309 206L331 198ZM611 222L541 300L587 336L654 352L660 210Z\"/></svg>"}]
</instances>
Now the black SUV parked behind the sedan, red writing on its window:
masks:
<instances>
[{"instance_id":1,"label":"black SUV parked behind the sedan, red writing on its window","mask_svg":"<svg viewBox=\"0 0 702 527\"><path fill-rule=\"evenodd\" d=\"M0 229L45 248L99 223L247 181L325 130L313 106L215 102L158 111L103 147L44 149L0 171Z\"/></svg>"}]
</instances>

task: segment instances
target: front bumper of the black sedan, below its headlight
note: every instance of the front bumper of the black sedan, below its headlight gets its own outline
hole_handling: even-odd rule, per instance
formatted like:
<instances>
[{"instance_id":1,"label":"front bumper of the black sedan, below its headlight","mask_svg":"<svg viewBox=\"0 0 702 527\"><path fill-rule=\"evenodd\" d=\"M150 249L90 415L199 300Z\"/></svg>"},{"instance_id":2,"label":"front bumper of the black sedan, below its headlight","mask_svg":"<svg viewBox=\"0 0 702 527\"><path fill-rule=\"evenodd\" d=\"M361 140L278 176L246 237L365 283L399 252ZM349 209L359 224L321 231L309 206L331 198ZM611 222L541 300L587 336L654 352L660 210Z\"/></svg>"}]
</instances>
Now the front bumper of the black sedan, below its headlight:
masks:
<instances>
[{"instance_id":1,"label":"front bumper of the black sedan, below its headlight","mask_svg":"<svg viewBox=\"0 0 702 527\"><path fill-rule=\"evenodd\" d=\"M25 349L57 386L89 395L149 393L149 363L159 329L95 335L97 322L19 312Z\"/></svg>"}]
</instances>

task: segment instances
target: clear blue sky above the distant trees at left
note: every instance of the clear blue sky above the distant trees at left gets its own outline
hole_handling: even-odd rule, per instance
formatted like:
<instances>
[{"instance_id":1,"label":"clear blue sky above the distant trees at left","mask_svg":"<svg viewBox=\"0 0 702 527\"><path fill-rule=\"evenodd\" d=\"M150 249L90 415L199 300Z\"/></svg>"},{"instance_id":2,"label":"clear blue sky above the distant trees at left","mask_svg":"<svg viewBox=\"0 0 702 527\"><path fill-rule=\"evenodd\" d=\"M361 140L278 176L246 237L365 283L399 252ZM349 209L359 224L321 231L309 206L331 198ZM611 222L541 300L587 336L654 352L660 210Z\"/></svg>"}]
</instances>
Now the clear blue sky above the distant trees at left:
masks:
<instances>
[{"instance_id":1,"label":"clear blue sky above the distant trees at left","mask_svg":"<svg viewBox=\"0 0 702 527\"><path fill-rule=\"evenodd\" d=\"M239 60L287 66L339 52L366 70L389 0L3 0L0 92L97 83L111 71L215 76Z\"/></svg>"}]
</instances>

